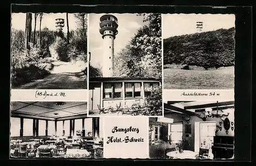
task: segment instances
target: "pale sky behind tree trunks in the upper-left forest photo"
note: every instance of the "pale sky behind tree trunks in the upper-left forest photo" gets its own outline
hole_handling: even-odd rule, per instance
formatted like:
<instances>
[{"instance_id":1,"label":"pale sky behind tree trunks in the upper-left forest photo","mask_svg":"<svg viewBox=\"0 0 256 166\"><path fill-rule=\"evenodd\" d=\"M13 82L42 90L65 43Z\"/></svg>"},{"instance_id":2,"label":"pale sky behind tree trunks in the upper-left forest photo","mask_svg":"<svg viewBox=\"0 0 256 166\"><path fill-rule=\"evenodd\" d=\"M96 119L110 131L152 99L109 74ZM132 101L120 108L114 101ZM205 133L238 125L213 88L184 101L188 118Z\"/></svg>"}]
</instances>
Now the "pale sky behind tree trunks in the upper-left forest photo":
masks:
<instances>
[{"instance_id":1,"label":"pale sky behind tree trunks in the upper-left forest photo","mask_svg":"<svg viewBox=\"0 0 256 166\"><path fill-rule=\"evenodd\" d=\"M55 19L63 18L65 19L65 26L63 27L63 32L67 33L67 22L66 22L66 13L44 13L42 16L41 29L44 27L48 27L49 30L56 30L55 27ZM26 13L12 13L11 17L12 28L16 30L24 30L25 31L25 23L26 23ZM76 19L73 13L69 14L69 30L76 29ZM34 13L32 13L32 31L34 30ZM36 19L36 30L39 30L39 15Z\"/></svg>"}]
</instances>

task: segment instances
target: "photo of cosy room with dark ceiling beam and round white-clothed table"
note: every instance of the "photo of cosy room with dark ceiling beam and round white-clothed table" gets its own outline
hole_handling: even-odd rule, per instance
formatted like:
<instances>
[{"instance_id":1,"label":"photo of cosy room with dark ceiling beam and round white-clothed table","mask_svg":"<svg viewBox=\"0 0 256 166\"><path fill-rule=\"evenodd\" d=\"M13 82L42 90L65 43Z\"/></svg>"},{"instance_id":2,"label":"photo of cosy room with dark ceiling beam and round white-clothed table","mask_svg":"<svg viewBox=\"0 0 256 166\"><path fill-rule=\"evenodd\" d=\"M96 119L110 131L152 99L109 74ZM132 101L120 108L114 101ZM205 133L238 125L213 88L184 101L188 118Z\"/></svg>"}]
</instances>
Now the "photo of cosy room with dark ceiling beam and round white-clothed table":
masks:
<instances>
[{"instance_id":1,"label":"photo of cosy room with dark ceiling beam and round white-clothed table","mask_svg":"<svg viewBox=\"0 0 256 166\"><path fill-rule=\"evenodd\" d=\"M164 101L149 119L150 158L233 158L234 101Z\"/></svg>"}]
</instances>

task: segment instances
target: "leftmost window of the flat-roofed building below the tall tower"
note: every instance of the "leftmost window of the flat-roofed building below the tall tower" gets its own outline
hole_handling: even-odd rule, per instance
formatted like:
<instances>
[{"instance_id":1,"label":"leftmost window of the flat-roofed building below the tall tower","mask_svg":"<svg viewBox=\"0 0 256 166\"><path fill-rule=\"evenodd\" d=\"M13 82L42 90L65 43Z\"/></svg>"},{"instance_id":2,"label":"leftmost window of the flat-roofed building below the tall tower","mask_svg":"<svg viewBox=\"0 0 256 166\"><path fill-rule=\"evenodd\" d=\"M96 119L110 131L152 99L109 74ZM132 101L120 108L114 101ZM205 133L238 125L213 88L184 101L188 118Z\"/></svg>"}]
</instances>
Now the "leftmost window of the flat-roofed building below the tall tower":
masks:
<instances>
[{"instance_id":1,"label":"leftmost window of the flat-roofed building below the tall tower","mask_svg":"<svg viewBox=\"0 0 256 166\"><path fill-rule=\"evenodd\" d=\"M104 83L103 98L121 98L122 97L122 83Z\"/></svg>"}]
</instances>

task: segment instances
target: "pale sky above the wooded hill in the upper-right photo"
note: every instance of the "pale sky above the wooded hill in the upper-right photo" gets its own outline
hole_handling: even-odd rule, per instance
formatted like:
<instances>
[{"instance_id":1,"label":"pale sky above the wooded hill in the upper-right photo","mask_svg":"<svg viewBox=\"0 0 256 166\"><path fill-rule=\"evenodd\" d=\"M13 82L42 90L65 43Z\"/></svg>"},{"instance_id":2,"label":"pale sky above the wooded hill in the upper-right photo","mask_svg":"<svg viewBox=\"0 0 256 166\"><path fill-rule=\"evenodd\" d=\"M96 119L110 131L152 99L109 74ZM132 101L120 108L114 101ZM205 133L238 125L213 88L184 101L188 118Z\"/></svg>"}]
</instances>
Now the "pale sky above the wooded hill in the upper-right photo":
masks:
<instances>
[{"instance_id":1,"label":"pale sky above the wooded hill in the upper-right photo","mask_svg":"<svg viewBox=\"0 0 256 166\"><path fill-rule=\"evenodd\" d=\"M196 22L203 22L201 32L235 26L234 14L162 14L162 38L197 33Z\"/></svg>"}]
</instances>

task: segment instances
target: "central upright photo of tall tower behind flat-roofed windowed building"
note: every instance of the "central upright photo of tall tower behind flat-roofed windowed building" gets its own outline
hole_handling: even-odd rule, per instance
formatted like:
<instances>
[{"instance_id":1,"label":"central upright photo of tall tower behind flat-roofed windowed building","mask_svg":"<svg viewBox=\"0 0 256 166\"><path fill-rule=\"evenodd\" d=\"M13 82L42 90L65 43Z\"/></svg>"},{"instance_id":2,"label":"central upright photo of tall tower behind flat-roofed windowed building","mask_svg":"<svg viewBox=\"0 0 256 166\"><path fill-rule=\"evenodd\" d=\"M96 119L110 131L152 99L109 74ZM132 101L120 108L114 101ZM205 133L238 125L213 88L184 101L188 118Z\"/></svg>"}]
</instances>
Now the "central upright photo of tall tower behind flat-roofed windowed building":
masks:
<instances>
[{"instance_id":1,"label":"central upright photo of tall tower behind flat-roofed windowed building","mask_svg":"<svg viewBox=\"0 0 256 166\"><path fill-rule=\"evenodd\" d=\"M89 14L89 116L162 116L161 14Z\"/></svg>"}]
</instances>

